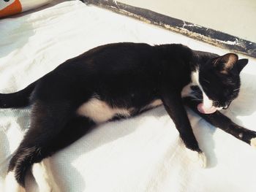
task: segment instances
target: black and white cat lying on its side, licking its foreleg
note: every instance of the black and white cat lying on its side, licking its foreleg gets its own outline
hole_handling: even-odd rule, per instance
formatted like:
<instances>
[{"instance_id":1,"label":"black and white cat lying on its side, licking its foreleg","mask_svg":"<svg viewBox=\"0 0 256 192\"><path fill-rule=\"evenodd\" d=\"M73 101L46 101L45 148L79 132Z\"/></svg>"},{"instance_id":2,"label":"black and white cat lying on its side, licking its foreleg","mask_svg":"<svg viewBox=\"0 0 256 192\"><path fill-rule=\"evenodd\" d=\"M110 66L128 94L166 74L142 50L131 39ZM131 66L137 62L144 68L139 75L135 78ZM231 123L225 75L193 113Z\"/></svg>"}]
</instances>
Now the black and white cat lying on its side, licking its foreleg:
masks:
<instances>
[{"instance_id":1,"label":"black and white cat lying on its side, licking its foreleg","mask_svg":"<svg viewBox=\"0 0 256 192\"><path fill-rule=\"evenodd\" d=\"M13 155L9 172L25 186L35 163L72 144L91 128L164 105L184 145L204 158L184 104L209 123L249 145L256 132L219 110L238 96L248 63L234 53L216 55L184 45L116 43L69 59L27 88L0 94L0 107L31 105L31 126Z\"/></svg>"}]
</instances>

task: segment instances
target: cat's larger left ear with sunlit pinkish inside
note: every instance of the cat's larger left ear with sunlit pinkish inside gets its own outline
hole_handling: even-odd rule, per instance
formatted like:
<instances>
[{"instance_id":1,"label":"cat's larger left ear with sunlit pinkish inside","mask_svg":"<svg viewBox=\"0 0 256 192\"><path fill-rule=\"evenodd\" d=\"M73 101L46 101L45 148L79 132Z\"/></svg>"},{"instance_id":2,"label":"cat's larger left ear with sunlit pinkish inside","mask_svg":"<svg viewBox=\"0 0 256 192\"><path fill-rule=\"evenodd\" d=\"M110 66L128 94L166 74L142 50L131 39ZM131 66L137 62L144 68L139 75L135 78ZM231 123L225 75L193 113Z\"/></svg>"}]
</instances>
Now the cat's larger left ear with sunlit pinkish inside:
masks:
<instances>
[{"instance_id":1,"label":"cat's larger left ear with sunlit pinkish inside","mask_svg":"<svg viewBox=\"0 0 256 192\"><path fill-rule=\"evenodd\" d=\"M215 58L213 61L214 66L217 70L223 74L227 74L238 62L238 55L234 53L227 53L218 58Z\"/></svg>"}]
</instances>

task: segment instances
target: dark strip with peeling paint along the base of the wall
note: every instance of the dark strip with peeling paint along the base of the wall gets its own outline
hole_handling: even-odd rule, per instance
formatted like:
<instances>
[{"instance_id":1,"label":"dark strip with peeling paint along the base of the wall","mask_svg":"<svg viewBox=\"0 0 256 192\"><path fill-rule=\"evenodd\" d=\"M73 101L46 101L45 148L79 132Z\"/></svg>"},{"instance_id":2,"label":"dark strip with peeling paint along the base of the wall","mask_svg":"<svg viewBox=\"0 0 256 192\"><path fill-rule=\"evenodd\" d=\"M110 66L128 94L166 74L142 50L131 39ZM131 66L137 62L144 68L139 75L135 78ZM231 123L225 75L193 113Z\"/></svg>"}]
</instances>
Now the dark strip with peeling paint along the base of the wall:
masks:
<instances>
[{"instance_id":1,"label":"dark strip with peeling paint along the base of the wall","mask_svg":"<svg viewBox=\"0 0 256 192\"><path fill-rule=\"evenodd\" d=\"M84 0L84 2L86 4L94 4L97 7L110 9L113 12L127 15L129 17L142 20L145 23L151 23L179 34L184 34L192 39L197 39L211 45L256 58L255 42L249 42L230 34L225 34L221 31L198 26L197 24L189 23L184 20L171 18L148 9L132 7L116 0Z\"/></svg>"}]
</instances>

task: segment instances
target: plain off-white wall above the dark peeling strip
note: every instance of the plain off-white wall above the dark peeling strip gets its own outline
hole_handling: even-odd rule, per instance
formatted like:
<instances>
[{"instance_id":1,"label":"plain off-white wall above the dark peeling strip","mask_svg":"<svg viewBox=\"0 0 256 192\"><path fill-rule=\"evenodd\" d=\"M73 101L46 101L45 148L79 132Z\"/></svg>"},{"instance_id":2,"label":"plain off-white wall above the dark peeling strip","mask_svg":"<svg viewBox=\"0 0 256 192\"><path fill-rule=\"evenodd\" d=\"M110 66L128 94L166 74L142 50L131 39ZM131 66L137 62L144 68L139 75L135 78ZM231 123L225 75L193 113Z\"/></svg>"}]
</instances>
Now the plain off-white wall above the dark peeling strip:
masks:
<instances>
[{"instance_id":1,"label":"plain off-white wall above the dark peeling strip","mask_svg":"<svg viewBox=\"0 0 256 192\"><path fill-rule=\"evenodd\" d=\"M118 0L256 42L256 0Z\"/></svg>"}]
</instances>

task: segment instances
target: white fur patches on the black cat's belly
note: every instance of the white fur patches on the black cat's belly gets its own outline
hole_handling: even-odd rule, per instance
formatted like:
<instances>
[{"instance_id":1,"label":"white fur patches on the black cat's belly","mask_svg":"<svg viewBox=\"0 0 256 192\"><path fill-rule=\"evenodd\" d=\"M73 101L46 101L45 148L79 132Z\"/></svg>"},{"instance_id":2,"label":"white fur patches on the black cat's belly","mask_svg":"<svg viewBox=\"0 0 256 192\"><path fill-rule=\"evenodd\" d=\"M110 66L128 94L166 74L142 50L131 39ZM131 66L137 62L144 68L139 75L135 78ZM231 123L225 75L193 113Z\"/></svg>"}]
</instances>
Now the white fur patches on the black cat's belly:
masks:
<instances>
[{"instance_id":1,"label":"white fur patches on the black cat's belly","mask_svg":"<svg viewBox=\"0 0 256 192\"><path fill-rule=\"evenodd\" d=\"M160 104L162 104L160 99L154 100L146 106L146 109L157 107ZM92 98L83 103L77 110L78 115L91 118L95 123L103 123L110 120L115 115L129 117L131 111L132 109L110 107L105 101L101 101L97 98Z\"/></svg>"}]
</instances>

